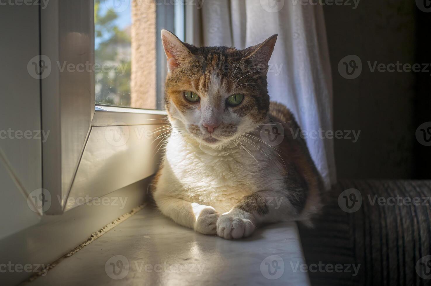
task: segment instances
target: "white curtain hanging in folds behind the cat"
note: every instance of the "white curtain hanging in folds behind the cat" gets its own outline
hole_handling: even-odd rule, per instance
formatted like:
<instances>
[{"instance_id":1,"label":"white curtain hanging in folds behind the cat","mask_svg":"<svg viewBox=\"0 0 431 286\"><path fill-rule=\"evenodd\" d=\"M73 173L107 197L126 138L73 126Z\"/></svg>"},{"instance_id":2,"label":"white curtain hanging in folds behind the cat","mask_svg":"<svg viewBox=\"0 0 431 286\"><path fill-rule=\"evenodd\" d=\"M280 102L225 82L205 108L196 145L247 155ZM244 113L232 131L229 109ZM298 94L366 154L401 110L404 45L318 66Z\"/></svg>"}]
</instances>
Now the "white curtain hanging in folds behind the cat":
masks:
<instances>
[{"instance_id":1,"label":"white curtain hanging in folds behind the cat","mask_svg":"<svg viewBox=\"0 0 431 286\"><path fill-rule=\"evenodd\" d=\"M308 148L328 189L335 183L336 174L333 139L319 135L319 131L333 131L332 79L325 21L322 6L301 3L296 0L206 0L201 7L187 7L186 17L194 17L195 25L194 37L186 35L186 40L191 39L195 45L244 49L278 34L269 61L269 95L271 100L284 103L309 135L306 137ZM201 27L201 31L197 27Z\"/></svg>"}]
</instances>

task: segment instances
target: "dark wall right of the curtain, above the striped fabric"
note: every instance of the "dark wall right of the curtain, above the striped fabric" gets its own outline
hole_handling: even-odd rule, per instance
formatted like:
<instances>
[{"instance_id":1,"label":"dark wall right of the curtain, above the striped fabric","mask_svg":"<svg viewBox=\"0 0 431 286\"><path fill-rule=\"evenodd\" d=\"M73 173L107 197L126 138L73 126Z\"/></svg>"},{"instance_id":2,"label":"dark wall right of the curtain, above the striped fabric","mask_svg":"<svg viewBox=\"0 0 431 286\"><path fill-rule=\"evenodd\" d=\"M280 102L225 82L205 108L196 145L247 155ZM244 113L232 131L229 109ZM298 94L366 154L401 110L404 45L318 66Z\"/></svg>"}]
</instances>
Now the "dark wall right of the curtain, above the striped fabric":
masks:
<instances>
[{"instance_id":1,"label":"dark wall right of the curtain, above the striped fabric","mask_svg":"<svg viewBox=\"0 0 431 286\"><path fill-rule=\"evenodd\" d=\"M431 146L422 146L415 137L419 124L431 121L431 67L427 73L398 72L396 66L394 72L387 70L392 70L388 64L397 62L431 63L430 45L424 40L429 41L431 13L420 11L415 1L383 0L360 1L356 9L324 6L324 12L334 83L334 130L361 131L356 143L335 140L338 177L431 178L429 163L423 159ZM418 28L424 22L428 26ZM359 66L354 57L341 61L349 55L362 62L362 72L353 74L353 79L343 77L352 59L352 66ZM377 67L372 71L369 65L375 62L384 64L385 71Z\"/></svg>"}]
</instances>

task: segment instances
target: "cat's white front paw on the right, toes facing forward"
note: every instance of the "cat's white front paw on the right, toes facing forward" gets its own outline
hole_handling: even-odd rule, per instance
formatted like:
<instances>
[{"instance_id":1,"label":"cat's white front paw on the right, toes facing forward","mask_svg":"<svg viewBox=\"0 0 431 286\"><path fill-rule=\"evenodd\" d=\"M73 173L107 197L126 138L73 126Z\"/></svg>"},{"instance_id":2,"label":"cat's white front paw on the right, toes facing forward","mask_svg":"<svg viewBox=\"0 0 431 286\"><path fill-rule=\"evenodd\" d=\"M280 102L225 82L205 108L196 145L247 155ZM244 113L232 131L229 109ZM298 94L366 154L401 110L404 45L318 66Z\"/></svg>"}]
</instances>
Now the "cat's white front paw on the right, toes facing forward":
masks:
<instances>
[{"instance_id":1,"label":"cat's white front paw on the right, toes facing forward","mask_svg":"<svg viewBox=\"0 0 431 286\"><path fill-rule=\"evenodd\" d=\"M252 221L232 214L223 214L217 221L217 234L225 239L247 237L255 229Z\"/></svg>"}]
</instances>

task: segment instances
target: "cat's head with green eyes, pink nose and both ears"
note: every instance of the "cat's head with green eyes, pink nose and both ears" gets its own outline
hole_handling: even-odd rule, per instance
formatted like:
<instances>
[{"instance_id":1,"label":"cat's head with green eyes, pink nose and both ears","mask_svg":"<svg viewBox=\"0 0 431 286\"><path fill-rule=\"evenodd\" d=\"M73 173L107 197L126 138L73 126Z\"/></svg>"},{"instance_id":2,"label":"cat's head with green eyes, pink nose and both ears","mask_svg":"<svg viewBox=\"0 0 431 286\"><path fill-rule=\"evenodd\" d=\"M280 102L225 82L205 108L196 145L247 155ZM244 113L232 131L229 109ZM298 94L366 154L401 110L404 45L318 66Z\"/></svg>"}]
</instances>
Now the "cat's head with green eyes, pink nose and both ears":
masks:
<instances>
[{"instance_id":1,"label":"cat's head with green eyes, pink nose and both ears","mask_svg":"<svg viewBox=\"0 0 431 286\"><path fill-rule=\"evenodd\" d=\"M277 35L261 44L195 47L162 30L168 59L165 107L178 133L219 146L262 124L269 110L266 74Z\"/></svg>"}]
</instances>

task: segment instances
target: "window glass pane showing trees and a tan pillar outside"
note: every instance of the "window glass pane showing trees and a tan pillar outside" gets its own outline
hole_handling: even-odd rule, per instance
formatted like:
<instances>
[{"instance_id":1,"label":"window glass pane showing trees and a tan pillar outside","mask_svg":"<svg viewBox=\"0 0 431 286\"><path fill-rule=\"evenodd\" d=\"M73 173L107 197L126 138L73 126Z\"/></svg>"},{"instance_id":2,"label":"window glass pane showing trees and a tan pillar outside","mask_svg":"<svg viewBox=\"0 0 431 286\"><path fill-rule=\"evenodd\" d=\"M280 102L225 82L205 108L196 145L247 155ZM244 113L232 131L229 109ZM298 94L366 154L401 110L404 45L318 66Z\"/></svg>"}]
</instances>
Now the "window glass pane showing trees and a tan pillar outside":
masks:
<instances>
[{"instance_id":1,"label":"window glass pane showing trees and a tan pillar outside","mask_svg":"<svg viewBox=\"0 0 431 286\"><path fill-rule=\"evenodd\" d=\"M162 109L161 29L184 35L181 1L94 1L96 104Z\"/></svg>"}]
</instances>

